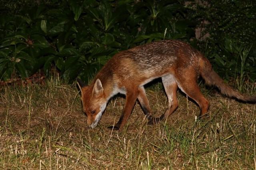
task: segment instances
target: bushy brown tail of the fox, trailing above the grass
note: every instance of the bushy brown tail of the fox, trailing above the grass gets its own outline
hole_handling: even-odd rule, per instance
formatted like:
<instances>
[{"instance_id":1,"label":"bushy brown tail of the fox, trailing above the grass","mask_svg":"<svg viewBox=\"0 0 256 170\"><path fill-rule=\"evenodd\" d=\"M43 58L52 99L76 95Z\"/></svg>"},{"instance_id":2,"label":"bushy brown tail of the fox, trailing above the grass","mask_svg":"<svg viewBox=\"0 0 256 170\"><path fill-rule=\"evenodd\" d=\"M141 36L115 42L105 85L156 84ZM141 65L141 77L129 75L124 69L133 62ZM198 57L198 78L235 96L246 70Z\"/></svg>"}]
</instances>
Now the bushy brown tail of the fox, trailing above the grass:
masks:
<instances>
[{"instance_id":1,"label":"bushy brown tail of the fox, trailing above the grass","mask_svg":"<svg viewBox=\"0 0 256 170\"><path fill-rule=\"evenodd\" d=\"M200 68L200 73L206 84L215 85L216 87L218 87L218 89L220 89L220 93L228 97L233 97L244 102L256 103L256 96L244 95L226 85L226 83L220 78L220 76L213 71L212 65L210 64L210 61L208 61L208 59L202 57L201 61L202 64Z\"/></svg>"}]
</instances>

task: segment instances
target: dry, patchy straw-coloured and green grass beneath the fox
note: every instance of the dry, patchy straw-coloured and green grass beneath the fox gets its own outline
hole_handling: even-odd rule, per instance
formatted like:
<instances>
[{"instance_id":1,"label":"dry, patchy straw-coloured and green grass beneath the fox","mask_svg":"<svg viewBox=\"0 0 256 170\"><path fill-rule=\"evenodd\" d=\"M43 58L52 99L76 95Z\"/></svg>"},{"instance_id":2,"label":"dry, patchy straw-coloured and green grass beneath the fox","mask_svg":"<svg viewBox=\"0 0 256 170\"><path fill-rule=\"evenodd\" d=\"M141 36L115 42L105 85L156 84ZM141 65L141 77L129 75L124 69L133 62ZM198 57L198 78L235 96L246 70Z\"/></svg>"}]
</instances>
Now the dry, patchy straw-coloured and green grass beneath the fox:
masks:
<instances>
[{"instance_id":1,"label":"dry, patchy straw-coloured and green grass beneath the fox","mask_svg":"<svg viewBox=\"0 0 256 170\"><path fill-rule=\"evenodd\" d=\"M202 85L203 86L203 85ZM87 128L76 85L1 87L0 169L255 169L256 105L239 103L202 88L208 117L178 93L179 107L166 123L147 125L136 103L121 131L122 97L108 103L98 126ZM255 95L253 85L244 93ZM161 84L147 88L154 114L167 107Z\"/></svg>"}]
</instances>

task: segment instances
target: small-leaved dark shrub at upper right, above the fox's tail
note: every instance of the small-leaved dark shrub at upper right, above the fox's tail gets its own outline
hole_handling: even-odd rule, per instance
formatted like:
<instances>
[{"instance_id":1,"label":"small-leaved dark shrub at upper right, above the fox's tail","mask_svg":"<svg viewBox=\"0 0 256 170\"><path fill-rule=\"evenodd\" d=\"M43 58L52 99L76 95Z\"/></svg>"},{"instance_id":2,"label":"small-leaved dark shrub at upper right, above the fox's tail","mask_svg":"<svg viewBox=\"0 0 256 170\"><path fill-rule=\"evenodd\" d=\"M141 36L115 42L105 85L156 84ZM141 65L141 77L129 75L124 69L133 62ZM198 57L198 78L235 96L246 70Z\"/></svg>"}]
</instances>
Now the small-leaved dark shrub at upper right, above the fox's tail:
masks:
<instances>
[{"instance_id":1,"label":"small-leaved dark shrub at upper right, above the fox's tail","mask_svg":"<svg viewBox=\"0 0 256 170\"><path fill-rule=\"evenodd\" d=\"M216 70L228 79L247 75L256 80L256 2L241 0L204 1L190 4L190 18L208 33L201 41L201 50L206 53ZM207 21L207 22L206 22Z\"/></svg>"}]
</instances>

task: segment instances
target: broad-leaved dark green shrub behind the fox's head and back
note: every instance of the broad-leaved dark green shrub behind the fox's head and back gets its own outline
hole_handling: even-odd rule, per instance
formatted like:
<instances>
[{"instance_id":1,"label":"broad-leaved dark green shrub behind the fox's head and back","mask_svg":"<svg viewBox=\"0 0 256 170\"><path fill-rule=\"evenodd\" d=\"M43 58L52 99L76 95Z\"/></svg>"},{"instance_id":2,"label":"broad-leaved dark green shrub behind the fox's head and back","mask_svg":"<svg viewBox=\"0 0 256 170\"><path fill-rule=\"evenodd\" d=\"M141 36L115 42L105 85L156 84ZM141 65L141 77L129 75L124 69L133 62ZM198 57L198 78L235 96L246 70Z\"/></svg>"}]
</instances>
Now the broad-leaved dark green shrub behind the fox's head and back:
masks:
<instances>
[{"instance_id":1,"label":"broad-leaved dark green shrub behind the fox's head and back","mask_svg":"<svg viewBox=\"0 0 256 170\"><path fill-rule=\"evenodd\" d=\"M192 28L176 1L53 1L2 13L0 80L29 77L40 68L49 75L54 67L68 82L77 76L88 81L118 51L189 39Z\"/></svg>"}]
</instances>

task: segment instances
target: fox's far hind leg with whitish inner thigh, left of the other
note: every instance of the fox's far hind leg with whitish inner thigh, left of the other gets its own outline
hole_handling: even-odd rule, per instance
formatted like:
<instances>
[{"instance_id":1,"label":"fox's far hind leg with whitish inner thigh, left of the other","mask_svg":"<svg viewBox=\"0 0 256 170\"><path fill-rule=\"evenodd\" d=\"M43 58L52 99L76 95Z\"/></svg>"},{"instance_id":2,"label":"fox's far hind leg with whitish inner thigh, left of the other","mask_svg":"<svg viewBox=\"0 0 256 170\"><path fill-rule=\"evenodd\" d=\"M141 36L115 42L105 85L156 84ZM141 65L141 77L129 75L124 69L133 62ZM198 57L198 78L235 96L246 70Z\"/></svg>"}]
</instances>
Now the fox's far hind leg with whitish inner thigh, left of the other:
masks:
<instances>
[{"instance_id":1,"label":"fox's far hind leg with whitish inner thigh, left of the other","mask_svg":"<svg viewBox=\"0 0 256 170\"><path fill-rule=\"evenodd\" d=\"M165 121L178 107L177 90L178 85L172 74L162 77L164 90L168 98L168 107L164 114L160 117L161 121Z\"/></svg>"}]
</instances>

